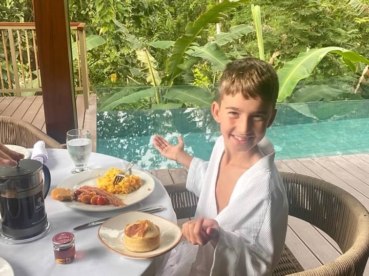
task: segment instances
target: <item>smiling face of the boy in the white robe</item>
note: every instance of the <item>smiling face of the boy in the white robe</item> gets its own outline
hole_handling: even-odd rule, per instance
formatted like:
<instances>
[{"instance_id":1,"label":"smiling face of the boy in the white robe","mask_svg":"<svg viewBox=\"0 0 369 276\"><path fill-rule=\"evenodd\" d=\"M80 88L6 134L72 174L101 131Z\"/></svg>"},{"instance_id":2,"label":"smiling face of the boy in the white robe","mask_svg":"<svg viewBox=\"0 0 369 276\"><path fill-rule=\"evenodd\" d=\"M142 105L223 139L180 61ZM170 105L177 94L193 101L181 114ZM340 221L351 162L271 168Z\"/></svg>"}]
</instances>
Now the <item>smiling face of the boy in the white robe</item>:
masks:
<instances>
[{"instance_id":1,"label":"smiling face of the boy in the white robe","mask_svg":"<svg viewBox=\"0 0 369 276\"><path fill-rule=\"evenodd\" d=\"M241 93L224 95L219 105L212 104L212 113L220 124L226 149L248 151L257 145L265 135L276 115L276 109L261 98L244 99Z\"/></svg>"}]
</instances>

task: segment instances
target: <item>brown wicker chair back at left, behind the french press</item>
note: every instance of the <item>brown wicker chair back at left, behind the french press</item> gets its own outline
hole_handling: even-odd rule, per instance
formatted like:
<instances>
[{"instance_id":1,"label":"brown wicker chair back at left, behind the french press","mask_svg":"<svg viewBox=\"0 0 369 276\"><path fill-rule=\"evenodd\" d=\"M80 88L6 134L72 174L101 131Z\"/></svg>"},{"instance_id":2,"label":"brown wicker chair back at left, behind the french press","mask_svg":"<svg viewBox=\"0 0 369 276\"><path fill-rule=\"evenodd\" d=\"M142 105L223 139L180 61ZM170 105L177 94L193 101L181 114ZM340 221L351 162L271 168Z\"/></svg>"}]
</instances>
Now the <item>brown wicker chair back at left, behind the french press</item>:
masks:
<instances>
[{"instance_id":1,"label":"brown wicker chair back at left, behind the french press","mask_svg":"<svg viewBox=\"0 0 369 276\"><path fill-rule=\"evenodd\" d=\"M0 142L3 144L33 148L39 140L44 141L47 148L60 148L61 146L59 142L30 123L0 116Z\"/></svg>"}]
</instances>

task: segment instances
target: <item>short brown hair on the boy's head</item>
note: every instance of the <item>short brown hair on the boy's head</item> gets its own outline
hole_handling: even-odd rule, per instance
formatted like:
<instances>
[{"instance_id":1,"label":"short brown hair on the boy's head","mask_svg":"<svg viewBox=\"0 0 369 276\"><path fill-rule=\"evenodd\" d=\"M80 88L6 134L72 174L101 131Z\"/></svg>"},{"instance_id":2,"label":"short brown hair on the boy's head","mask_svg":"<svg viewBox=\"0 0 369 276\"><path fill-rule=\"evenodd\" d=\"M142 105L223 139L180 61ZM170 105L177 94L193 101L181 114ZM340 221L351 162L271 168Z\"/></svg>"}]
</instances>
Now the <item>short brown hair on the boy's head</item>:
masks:
<instances>
[{"instance_id":1,"label":"short brown hair on the boy's head","mask_svg":"<svg viewBox=\"0 0 369 276\"><path fill-rule=\"evenodd\" d=\"M247 57L227 64L218 88L218 103L224 95L241 93L244 99L260 97L275 107L279 82L273 66L258 58Z\"/></svg>"}]
</instances>

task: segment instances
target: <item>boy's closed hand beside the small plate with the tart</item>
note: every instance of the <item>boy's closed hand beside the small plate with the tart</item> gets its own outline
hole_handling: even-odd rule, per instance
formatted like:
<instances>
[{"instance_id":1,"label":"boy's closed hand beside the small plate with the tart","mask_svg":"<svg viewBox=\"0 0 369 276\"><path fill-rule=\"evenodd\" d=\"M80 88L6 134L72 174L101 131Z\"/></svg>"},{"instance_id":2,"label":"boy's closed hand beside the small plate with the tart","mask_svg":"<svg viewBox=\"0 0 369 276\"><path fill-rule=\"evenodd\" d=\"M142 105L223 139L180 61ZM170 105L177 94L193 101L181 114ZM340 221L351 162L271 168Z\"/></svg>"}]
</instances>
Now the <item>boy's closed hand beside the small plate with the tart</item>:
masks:
<instances>
[{"instance_id":1,"label":"boy's closed hand beside the small plate with the tart","mask_svg":"<svg viewBox=\"0 0 369 276\"><path fill-rule=\"evenodd\" d=\"M182 233L192 244L205 245L210 241L215 247L219 238L219 224L215 219L190 220L183 223Z\"/></svg>"}]
</instances>

